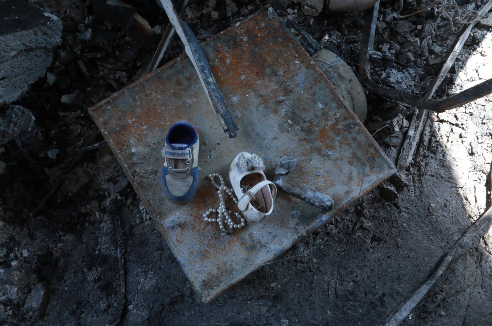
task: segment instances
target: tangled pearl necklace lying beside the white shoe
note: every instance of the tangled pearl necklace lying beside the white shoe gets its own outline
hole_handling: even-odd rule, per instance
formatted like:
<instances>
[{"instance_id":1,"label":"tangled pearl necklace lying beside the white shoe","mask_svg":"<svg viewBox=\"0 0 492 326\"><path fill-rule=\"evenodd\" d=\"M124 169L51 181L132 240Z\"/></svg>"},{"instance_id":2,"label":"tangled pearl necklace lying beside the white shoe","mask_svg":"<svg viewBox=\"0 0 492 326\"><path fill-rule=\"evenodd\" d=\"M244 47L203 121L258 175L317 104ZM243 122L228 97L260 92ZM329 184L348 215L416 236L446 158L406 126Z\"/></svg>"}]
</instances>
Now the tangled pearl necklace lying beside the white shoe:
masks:
<instances>
[{"instance_id":1,"label":"tangled pearl necklace lying beside the white shoe","mask_svg":"<svg viewBox=\"0 0 492 326\"><path fill-rule=\"evenodd\" d=\"M215 177L218 177L220 185L215 182L215 179L214 179ZM225 235L226 233L232 233L234 229L240 229L243 226L245 226L246 225L246 219L244 217L241 217L241 215L239 213L234 213L232 211L228 211L225 208L224 191L226 194L228 194L232 198L232 200L234 201L234 204L238 203L238 199L236 198L236 196L234 196L233 190L230 188L227 188L224 185L224 178L220 174L211 173L211 174L209 174L209 178L210 178L210 181L212 181L212 185L214 185L214 187L217 189L217 195L218 195L220 204L219 204L218 208L214 208L214 209L210 208L209 210L207 210L205 212L205 214L203 214L203 219L209 223L210 222L212 222L212 223L216 222L218 225L218 228L222 231L222 235ZM216 218L209 218L209 215L211 213L217 213L217 217ZM234 220L232 219L232 216L235 217L236 222L234 222ZM240 221L239 223L237 223L238 220ZM227 226L229 227L229 230L226 230L226 226L224 226L224 221L227 224Z\"/></svg>"}]
</instances>

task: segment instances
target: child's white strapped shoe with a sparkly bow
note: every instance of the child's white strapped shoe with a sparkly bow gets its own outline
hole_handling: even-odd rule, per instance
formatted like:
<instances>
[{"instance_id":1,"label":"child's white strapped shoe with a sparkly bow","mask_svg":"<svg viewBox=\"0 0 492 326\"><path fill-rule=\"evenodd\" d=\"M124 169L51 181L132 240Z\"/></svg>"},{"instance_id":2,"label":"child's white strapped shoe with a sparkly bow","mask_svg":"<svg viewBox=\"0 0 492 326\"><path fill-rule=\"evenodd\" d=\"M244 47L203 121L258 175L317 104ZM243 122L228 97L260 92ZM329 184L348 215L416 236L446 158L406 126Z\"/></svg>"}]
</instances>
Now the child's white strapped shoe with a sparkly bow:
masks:
<instances>
[{"instance_id":1,"label":"child's white strapped shoe with a sparkly bow","mask_svg":"<svg viewBox=\"0 0 492 326\"><path fill-rule=\"evenodd\" d=\"M261 157L247 152L232 159L229 179L238 198L238 208L251 222L259 222L272 214L277 187L263 173L265 164ZM271 186L271 187L270 187Z\"/></svg>"}]
</instances>

